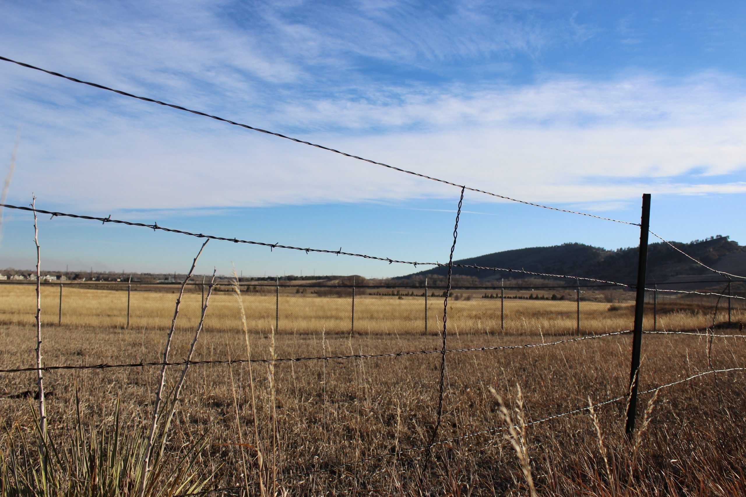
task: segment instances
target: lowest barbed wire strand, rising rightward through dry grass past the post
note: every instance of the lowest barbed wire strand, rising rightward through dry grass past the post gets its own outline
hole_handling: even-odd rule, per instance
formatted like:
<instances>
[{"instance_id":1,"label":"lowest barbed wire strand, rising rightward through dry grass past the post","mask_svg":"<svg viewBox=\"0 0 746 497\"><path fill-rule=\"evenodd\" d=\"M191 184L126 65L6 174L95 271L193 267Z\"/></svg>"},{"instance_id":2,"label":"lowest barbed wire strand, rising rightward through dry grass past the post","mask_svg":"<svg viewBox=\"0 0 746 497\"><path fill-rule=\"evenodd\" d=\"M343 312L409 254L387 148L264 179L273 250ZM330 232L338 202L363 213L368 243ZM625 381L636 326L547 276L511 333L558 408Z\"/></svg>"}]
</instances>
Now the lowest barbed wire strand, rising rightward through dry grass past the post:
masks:
<instances>
[{"instance_id":1,"label":"lowest barbed wire strand, rising rightward through dry grass past the post","mask_svg":"<svg viewBox=\"0 0 746 497\"><path fill-rule=\"evenodd\" d=\"M697 378L699 378L701 376L707 376L707 375L713 374L713 373L729 373L729 372L732 372L732 371L745 371L745 370L746 370L746 367L730 367L730 368L722 369L722 370L703 371L702 373L697 373L697 374L689 376L689 377L687 377L685 379L677 380L676 382L670 382L670 383L666 383L666 384L661 384L661 385L659 385L657 387L649 388L648 390L644 390L642 392L639 392L638 395L646 395L648 393L653 393L656 390L660 390L662 388L673 387L674 385L685 383L685 382L690 382L693 379L697 379ZM551 421L551 420L556 420L556 419L558 419L560 417L569 416L571 414L578 414L578 413L581 413L583 411L590 411L591 409L601 408L601 407L604 407L605 405L613 404L614 402L619 402L620 400L627 399L627 395L628 394L625 394L625 395L622 395L622 396L615 397L613 399L605 400L604 402L598 402L598 404L594 404L594 405L586 405L585 407L576 408L576 409L573 409L571 411L565 411L565 412L562 412L560 414L553 414L552 416L544 417L544 418L542 418L540 420L535 420L535 421L527 422L526 425L527 426L538 425L539 423L547 422L547 421ZM519 426L515 425L514 428L519 428ZM441 445L450 444L450 443L457 443L457 442L460 442L461 440L466 440L467 438L477 437L477 436L486 435L486 434L493 434L493 433L496 433L498 431L504 431L505 429L507 429L507 428L504 427L504 426L498 426L497 428L489 428L489 429L482 430L482 431L474 431L472 433L461 435L459 437L449 438L449 439L446 439L446 440L440 440L439 442L433 443L433 446L441 446ZM407 454L409 452L420 451L422 449L427 449L428 446L429 446L429 444L428 445L422 445L422 446L410 447L410 449L404 449L404 450L397 451L397 452L387 452L386 454L375 455L375 456L372 456L370 458L356 460L356 461L353 461L353 462L350 462L350 463L338 464L336 466L330 466L328 468L322 468L322 469L313 469L313 470L310 470L310 471L307 471L307 472L298 473L297 475L287 475L287 476L285 476L283 478L279 478L278 481L296 480L298 478L304 478L304 477L315 475L317 473L322 473L322 472L336 472L338 469L344 469L344 468L350 467L350 466L357 466L357 465L360 465L360 464L363 464L363 463L369 463L369 462L371 462L373 460L380 460L380 459L384 459L384 458L398 457L400 455ZM195 492L195 493L182 493L182 494L178 494L178 495L176 495L174 497L204 496L204 495L207 495L209 493L226 493L226 492L234 492L234 491L237 491L237 490L245 490L245 489L246 489L245 486L242 486L242 487L223 487L223 488L218 488L218 489L213 489L213 490L202 490L200 492Z\"/></svg>"}]
</instances>

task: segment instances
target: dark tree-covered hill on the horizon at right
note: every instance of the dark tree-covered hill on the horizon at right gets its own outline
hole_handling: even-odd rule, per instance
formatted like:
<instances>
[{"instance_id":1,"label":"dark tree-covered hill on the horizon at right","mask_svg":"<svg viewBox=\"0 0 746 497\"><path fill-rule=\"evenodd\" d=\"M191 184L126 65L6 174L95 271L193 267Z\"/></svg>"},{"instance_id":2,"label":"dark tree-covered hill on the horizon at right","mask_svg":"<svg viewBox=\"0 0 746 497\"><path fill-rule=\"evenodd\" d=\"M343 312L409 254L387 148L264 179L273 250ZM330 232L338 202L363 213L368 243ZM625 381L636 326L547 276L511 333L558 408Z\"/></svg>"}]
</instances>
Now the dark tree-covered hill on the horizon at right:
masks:
<instances>
[{"instance_id":1,"label":"dark tree-covered hill on the horizon at right","mask_svg":"<svg viewBox=\"0 0 746 497\"><path fill-rule=\"evenodd\" d=\"M746 247L727 236L696 240L689 243L671 242L692 257L717 270L729 273L746 273ZM568 274L610 281L634 283L637 277L638 247L606 250L591 245L567 243L552 247L530 247L518 250L489 253L484 256L460 259L460 264L488 268L510 268L537 273ZM447 268L420 271L400 279L420 279L421 276L446 276ZM524 279L521 273L485 271L471 268L454 268L454 275L471 276L482 282L501 278ZM706 268L686 258L664 243L648 245L648 281L666 282L691 279L721 279Z\"/></svg>"}]
</instances>

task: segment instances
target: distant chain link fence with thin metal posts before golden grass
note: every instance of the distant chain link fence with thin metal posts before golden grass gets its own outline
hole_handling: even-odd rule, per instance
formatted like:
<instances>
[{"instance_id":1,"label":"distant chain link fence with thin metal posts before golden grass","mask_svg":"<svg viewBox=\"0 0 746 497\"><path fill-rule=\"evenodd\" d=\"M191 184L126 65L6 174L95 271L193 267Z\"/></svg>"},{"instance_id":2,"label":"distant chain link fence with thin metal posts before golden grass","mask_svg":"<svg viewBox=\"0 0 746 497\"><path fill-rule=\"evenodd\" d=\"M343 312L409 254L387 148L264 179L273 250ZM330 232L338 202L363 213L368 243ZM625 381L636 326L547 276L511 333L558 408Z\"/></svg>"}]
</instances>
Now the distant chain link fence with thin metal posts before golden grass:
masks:
<instances>
[{"instance_id":1,"label":"distant chain link fence with thin metal posts before golden grass","mask_svg":"<svg viewBox=\"0 0 746 497\"><path fill-rule=\"evenodd\" d=\"M705 286L708 285L708 286ZM651 285L653 286L653 285ZM679 294L655 285L647 292L645 329L702 330L746 320L738 298ZM673 288L671 288L673 287ZM43 320L79 328L168 329L181 285L44 282ZM743 282L698 282L696 291L746 296ZM692 285L687 290L692 291ZM34 323L36 288L32 282L0 285L0 323ZM442 330L444 288L342 285L239 285L248 328L284 334L426 334ZM207 285L186 285L179 326L196 326ZM454 287L448 323L452 333L583 335L631 329L633 291L612 286ZM207 331L242 329L233 285L217 284L210 297Z\"/></svg>"}]
</instances>

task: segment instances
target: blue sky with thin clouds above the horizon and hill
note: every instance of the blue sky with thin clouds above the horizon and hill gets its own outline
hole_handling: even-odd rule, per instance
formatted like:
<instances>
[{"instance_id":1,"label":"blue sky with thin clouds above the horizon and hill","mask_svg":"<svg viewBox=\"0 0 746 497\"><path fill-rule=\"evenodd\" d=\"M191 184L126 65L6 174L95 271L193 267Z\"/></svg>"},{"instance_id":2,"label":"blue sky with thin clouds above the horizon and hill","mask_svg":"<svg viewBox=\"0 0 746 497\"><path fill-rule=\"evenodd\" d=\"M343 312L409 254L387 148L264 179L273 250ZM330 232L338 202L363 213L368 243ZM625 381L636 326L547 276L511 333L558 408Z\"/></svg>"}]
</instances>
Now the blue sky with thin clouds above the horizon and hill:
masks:
<instances>
[{"instance_id":1,"label":"blue sky with thin clouds above the horizon and hill","mask_svg":"<svg viewBox=\"0 0 746 497\"><path fill-rule=\"evenodd\" d=\"M742 2L7 1L0 54L669 239L746 243ZM8 203L444 262L459 191L0 63ZM467 194L456 256L634 227ZM0 267L34 263L4 212ZM181 270L198 241L45 219L47 268ZM198 270L410 268L210 242Z\"/></svg>"}]
</instances>

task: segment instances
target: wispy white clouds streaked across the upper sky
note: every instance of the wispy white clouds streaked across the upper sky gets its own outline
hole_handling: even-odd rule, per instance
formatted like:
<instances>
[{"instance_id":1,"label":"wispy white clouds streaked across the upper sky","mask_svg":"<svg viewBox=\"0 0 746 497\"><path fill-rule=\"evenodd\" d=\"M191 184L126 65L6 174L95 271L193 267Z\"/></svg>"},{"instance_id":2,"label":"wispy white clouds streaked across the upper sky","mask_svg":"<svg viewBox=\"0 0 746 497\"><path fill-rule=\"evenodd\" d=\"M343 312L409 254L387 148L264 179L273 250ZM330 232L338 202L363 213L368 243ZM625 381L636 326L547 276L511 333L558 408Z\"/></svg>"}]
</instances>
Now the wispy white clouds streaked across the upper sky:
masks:
<instances>
[{"instance_id":1,"label":"wispy white clouds streaked across the upper sky","mask_svg":"<svg viewBox=\"0 0 746 497\"><path fill-rule=\"evenodd\" d=\"M727 194L683 183L692 168L746 167L746 82L544 74L433 83L369 79L362 60L407 70L587 42L546 4L427 7L252 2L4 6L5 54L527 200L613 209L642 190ZM134 10L133 10L134 9ZM34 10L35 22L28 13ZM434 62L434 63L433 63ZM403 69L403 70L404 70ZM0 66L0 151L25 139L11 196L76 208L194 209L452 197L454 189L274 137ZM634 182L618 179L650 178ZM494 200L480 197L481 200Z\"/></svg>"}]
</instances>

